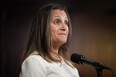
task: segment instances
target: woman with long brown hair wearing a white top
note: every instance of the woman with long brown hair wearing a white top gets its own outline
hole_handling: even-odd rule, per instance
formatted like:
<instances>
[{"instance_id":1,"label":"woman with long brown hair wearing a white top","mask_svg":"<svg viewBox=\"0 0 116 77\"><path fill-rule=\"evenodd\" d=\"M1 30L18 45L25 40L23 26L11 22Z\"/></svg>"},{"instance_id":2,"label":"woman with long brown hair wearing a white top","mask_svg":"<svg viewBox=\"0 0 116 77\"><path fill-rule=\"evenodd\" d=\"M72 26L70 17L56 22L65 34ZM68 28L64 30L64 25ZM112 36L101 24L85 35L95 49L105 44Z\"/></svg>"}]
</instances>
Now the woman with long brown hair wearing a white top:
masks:
<instances>
[{"instance_id":1,"label":"woman with long brown hair wearing a white top","mask_svg":"<svg viewBox=\"0 0 116 77\"><path fill-rule=\"evenodd\" d=\"M67 55L70 36L66 8L60 4L42 7L32 24L19 77L79 77Z\"/></svg>"}]
</instances>

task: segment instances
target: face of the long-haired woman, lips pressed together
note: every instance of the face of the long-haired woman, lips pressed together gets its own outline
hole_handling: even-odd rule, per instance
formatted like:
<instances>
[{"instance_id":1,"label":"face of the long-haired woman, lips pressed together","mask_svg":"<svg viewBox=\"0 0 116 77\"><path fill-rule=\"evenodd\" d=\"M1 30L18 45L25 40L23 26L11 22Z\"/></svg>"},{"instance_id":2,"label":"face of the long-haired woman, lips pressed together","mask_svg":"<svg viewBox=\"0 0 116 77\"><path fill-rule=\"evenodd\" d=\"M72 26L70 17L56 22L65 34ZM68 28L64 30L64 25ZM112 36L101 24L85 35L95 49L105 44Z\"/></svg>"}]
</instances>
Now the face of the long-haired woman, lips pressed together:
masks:
<instances>
[{"instance_id":1,"label":"face of the long-haired woman, lips pressed together","mask_svg":"<svg viewBox=\"0 0 116 77\"><path fill-rule=\"evenodd\" d=\"M66 43L69 28L68 17L63 10L53 10L50 20L50 31L53 46L61 46Z\"/></svg>"}]
</instances>

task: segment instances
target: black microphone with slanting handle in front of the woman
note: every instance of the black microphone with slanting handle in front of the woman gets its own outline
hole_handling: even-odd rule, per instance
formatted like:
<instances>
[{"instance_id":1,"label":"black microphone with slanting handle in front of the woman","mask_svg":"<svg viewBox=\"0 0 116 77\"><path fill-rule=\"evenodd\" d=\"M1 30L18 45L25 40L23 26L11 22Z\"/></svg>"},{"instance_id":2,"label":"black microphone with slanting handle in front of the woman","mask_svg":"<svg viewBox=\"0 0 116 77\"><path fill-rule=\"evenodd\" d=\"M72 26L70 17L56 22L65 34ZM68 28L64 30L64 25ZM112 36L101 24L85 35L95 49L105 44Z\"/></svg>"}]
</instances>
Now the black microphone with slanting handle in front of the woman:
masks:
<instances>
[{"instance_id":1,"label":"black microphone with slanting handle in front of the woman","mask_svg":"<svg viewBox=\"0 0 116 77\"><path fill-rule=\"evenodd\" d=\"M80 55L80 54L73 53L71 55L70 59L71 59L72 62L75 62L75 63L78 63L78 64L85 63L85 64L92 65L92 66L94 66L96 68L111 70L111 68L105 66L104 64L99 63L99 62L95 62L95 61L90 61L85 56Z\"/></svg>"}]
</instances>

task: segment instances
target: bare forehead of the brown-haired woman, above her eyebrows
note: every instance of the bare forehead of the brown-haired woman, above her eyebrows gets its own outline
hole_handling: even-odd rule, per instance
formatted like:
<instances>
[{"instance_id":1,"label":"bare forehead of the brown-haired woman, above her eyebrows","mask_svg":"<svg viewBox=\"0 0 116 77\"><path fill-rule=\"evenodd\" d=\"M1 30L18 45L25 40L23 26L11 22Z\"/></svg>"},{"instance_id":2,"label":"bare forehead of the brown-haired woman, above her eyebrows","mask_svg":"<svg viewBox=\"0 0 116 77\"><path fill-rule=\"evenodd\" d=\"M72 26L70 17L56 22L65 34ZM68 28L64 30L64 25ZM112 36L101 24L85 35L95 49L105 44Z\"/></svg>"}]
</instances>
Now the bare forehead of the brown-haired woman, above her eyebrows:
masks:
<instances>
[{"instance_id":1,"label":"bare forehead of the brown-haired woman, above her eyebrows","mask_svg":"<svg viewBox=\"0 0 116 77\"><path fill-rule=\"evenodd\" d=\"M59 10L59 9L51 11L51 17L56 17L56 16L63 16L67 18L66 12L64 10Z\"/></svg>"}]
</instances>

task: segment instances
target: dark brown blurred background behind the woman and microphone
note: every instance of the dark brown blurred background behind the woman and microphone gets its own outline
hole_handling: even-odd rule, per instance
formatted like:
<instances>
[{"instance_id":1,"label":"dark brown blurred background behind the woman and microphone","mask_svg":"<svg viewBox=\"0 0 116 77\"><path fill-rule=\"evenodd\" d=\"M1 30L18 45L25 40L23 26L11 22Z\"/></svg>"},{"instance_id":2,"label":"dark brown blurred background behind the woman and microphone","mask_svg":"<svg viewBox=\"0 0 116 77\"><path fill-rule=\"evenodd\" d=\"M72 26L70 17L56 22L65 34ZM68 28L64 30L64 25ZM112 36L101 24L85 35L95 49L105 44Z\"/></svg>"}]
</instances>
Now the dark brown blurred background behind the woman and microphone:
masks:
<instances>
[{"instance_id":1,"label":"dark brown blurred background behind the woman and microphone","mask_svg":"<svg viewBox=\"0 0 116 77\"><path fill-rule=\"evenodd\" d=\"M115 0L0 0L0 77L16 77L32 18L42 5L60 2L70 13L73 36L70 54L79 53L111 67L116 74ZM80 77L96 77L90 65L78 65ZM103 70L103 77L112 73Z\"/></svg>"}]
</instances>

